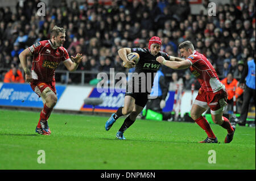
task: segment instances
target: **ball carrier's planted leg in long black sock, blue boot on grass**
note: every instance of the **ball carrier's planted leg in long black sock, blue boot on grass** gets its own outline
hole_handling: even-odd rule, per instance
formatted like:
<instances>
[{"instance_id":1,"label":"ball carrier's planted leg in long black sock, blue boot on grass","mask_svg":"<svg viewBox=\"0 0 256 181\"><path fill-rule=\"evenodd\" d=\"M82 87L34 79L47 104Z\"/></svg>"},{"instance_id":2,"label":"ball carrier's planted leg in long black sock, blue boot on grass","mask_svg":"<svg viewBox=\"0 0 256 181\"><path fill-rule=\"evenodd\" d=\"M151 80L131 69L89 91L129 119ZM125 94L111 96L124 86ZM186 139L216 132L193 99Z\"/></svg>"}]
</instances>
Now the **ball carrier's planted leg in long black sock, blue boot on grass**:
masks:
<instances>
[{"instance_id":1,"label":"ball carrier's planted leg in long black sock, blue boot on grass","mask_svg":"<svg viewBox=\"0 0 256 181\"><path fill-rule=\"evenodd\" d=\"M131 111L130 115L126 117L125 121L123 122L121 128L119 129L119 131L117 132L116 137L119 140L125 140L125 137L123 137L123 132L126 131L126 129L128 129L136 120L136 117L139 115L139 113L141 113L143 110L143 107L138 106L137 104L135 104L133 111Z\"/></svg>"}]
</instances>

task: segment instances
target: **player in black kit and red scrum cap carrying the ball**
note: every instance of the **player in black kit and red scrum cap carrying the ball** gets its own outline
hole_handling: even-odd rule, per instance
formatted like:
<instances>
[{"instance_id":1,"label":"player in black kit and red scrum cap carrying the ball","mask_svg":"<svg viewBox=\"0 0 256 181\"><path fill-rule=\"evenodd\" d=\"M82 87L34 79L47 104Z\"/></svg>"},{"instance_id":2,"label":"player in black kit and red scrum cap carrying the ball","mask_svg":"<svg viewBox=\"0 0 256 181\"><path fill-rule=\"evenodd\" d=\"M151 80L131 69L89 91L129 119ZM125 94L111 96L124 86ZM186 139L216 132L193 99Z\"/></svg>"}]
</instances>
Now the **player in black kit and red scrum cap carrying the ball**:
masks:
<instances>
[{"instance_id":1,"label":"player in black kit and red scrum cap carrying the ball","mask_svg":"<svg viewBox=\"0 0 256 181\"><path fill-rule=\"evenodd\" d=\"M116 134L119 140L125 140L123 132L134 123L136 117L147 103L156 71L158 71L161 65L156 61L156 57L163 56L166 60L172 60L172 56L160 51L161 45L160 38L153 36L148 42L148 48L121 48L118 50L118 54L123 62L125 62L126 68L133 68L135 66L133 77L126 85L123 107L119 107L117 112L113 113L105 124L106 131L109 131L119 117L129 115ZM131 52L139 54L139 61L136 65L127 59L127 54Z\"/></svg>"}]
</instances>

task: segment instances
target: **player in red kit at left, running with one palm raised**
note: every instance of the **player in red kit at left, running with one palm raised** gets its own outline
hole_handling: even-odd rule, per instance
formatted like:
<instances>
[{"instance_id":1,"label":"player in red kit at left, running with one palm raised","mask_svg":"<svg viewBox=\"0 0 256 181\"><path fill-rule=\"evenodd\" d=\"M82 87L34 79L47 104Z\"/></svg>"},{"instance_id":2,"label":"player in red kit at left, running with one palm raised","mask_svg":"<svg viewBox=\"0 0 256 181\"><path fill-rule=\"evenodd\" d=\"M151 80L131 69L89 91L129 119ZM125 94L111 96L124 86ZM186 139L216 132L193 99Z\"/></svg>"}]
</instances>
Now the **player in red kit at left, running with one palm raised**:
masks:
<instances>
[{"instance_id":1,"label":"player in red kit at left, running with one palm raised","mask_svg":"<svg viewBox=\"0 0 256 181\"><path fill-rule=\"evenodd\" d=\"M53 27L49 40L39 41L19 54L20 63L25 73L26 82L43 100L43 110L36 126L36 132L49 135L48 118L57 103L55 89L55 69L63 62L69 71L75 71L82 60L82 54L69 58L67 50L62 47L65 41L65 29ZM32 69L28 69L27 56L33 56Z\"/></svg>"}]
</instances>

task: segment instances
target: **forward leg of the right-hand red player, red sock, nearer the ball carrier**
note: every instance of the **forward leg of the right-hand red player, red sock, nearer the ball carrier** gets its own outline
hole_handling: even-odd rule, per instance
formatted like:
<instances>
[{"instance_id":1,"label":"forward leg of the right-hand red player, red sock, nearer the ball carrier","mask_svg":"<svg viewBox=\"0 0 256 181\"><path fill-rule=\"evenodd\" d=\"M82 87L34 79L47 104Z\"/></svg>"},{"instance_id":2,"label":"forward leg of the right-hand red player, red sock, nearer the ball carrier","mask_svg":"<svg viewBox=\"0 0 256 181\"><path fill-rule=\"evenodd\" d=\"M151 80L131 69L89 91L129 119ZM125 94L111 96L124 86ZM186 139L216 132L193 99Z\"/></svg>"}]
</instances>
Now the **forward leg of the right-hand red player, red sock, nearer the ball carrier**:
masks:
<instances>
[{"instance_id":1,"label":"forward leg of the right-hand red player, red sock, nearer the ball carrier","mask_svg":"<svg viewBox=\"0 0 256 181\"><path fill-rule=\"evenodd\" d=\"M210 143L210 142L218 142L216 136L214 135L212 129L210 128L210 125L208 121L202 116L202 114L206 111L207 109L204 107L201 107L197 104L192 105L191 109L191 117L192 119L198 124L204 131L207 133L207 138L204 141L200 141L202 143Z\"/></svg>"}]
</instances>

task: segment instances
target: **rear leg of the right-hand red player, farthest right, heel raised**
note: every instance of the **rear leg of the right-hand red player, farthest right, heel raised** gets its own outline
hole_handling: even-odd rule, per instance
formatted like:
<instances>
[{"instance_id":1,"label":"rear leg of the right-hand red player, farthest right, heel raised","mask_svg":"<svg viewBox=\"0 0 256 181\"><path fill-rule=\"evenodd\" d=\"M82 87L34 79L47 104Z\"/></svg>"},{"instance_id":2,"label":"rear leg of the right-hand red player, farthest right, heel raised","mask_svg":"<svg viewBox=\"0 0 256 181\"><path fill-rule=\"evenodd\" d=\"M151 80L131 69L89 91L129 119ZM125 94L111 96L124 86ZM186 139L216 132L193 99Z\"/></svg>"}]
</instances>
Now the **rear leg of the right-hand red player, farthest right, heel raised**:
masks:
<instances>
[{"instance_id":1,"label":"rear leg of the right-hand red player, farthest right, heel raised","mask_svg":"<svg viewBox=\"0 0 256 181\"><path fill-rule=\"evenodd\" d=\"M236 130L235 126L232 126L228 120L228 118L223 116L223 111L220 113L214 114L212 113L212 120L215 124L220 125L228 131L228 134L225 138L225 143L230 143L233 140L234 131Z\"/></svg>"}]
</instances>

